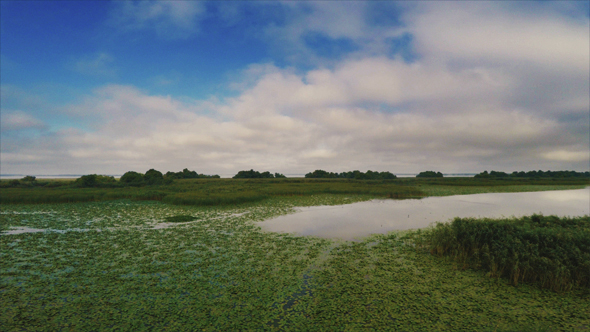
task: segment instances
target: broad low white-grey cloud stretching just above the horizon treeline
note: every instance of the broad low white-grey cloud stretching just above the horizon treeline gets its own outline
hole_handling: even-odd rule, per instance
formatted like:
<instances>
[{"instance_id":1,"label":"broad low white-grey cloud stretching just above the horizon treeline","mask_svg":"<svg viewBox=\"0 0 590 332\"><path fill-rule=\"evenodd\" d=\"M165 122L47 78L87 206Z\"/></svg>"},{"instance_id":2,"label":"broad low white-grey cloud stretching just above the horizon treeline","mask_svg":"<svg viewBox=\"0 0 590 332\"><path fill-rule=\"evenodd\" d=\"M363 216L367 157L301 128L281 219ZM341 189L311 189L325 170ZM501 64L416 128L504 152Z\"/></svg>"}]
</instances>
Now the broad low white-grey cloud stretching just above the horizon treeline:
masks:
<instances>
[{"instance_id":1,"label":"broad low white-grey cloud stretching just above the horizon treeline","mask_svg":"<svg viewBox=\"0 0 590 332\"><path fill-rule=\"evenodd\" d=\"M220 104L107 86L70 110L98 114L95 131L62 131L43 138L44 145L30 144L21 151L35 155L37 149L59 147L55 154L39 154L46 167L77 161L95 165L88 171L110 173L146 167L222 174L250 168L301 173L316 168L411 172L426 166L516 170L523 158L533 161L535 169L549 165L545 161L568 161L573 167L566 168L578 169L584 164L578 155L553 153L576 148L580 137L534 113L500 108L383 113L350 104L294 112L297 104L282 98L296 81L292 75L271 78L275 85L268 94L260 91L269 86L263 78L240 97ZM304 87L301 77L297 81Z\"/></svg>"}]
</instances>

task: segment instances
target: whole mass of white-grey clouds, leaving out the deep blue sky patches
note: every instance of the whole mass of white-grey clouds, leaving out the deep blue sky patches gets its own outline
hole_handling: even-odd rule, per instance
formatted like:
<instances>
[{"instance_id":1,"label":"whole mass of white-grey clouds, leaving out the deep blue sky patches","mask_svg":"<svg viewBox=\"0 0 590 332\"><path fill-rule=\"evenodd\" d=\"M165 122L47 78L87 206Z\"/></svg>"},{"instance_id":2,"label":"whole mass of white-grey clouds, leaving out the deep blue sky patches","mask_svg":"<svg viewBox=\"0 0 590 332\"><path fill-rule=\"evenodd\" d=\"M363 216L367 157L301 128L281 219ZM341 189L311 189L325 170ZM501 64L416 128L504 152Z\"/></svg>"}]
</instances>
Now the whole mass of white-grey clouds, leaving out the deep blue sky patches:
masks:
<instances>
[{"instance_id":1,"label":"whole mass of white-grey clouds, leaving out the deep blue sky patches","mask_svg":"<svg viewBox=\"0 0 590 332\"><path fill-rule=\"evenodd\" d=\"M118 15L130 29L187 36L204 10L177 7L188 5L124 2ZM290 52L293 66L252 64L228 82L235 96L207 100L102 86L61 110L91 130L23 139L16 132L43 124L3 111L3 173L588 169L587 16L420 2L401 6L399 24L380 27L370 3L284 6L291 18L261 38ZM323 59L305 44L309 33L356 46ZM411 61L386 47L404 35ZM302 70L305 57L313 65Z\"/></svg>"}]
</instances>

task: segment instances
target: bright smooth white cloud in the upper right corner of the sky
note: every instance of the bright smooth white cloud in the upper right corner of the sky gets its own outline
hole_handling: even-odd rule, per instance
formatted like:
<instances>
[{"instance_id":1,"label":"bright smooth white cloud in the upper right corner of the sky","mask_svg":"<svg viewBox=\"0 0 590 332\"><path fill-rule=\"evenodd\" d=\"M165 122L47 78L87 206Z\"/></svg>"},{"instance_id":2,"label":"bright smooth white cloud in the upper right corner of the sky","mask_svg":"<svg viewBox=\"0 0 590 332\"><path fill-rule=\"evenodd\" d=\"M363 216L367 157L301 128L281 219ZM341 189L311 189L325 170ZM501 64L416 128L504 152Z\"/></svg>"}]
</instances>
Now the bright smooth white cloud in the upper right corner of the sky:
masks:
<instances>
[{"instance_id":1,"label":"bright smooth white cloud in the upper right corner of the sky","mask_svg":"<svg viewBox=\"0 0 590 332\"><path fill-rule=\"evenodd\" d=\"M429 60L510 61L557 71L589 70L587 18L529 13L492 2L430 2L418 8L406 20L418 51Z\"/></svg>"}]
</instances>

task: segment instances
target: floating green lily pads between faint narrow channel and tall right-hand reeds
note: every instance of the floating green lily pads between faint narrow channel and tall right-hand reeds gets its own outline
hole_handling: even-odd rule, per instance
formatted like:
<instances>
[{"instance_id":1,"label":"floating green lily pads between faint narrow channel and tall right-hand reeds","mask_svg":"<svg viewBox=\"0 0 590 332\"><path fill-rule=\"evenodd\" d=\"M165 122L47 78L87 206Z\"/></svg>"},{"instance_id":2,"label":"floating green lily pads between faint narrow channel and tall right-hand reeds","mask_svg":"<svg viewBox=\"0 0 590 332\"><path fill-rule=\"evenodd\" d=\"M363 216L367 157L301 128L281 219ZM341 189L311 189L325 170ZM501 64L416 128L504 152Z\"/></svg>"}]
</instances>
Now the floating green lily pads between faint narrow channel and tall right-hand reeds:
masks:
<instances>
[{"instance_id":1,"label":"floating green lily pads between faint narrow channel and tall right-hand reeds","mask_svg":"<svg viewBox=\"0 0 590 332\"><path fill-rule=\"evenodd\" d=\"M587 293L557 295L416 250L417 232L347 242L311 273L284 321L306 331L539 331L588 327ZM555 302L552 302L555 301ZM571 315L571 316L570 316Z\"/></svg>"}]
</instances>

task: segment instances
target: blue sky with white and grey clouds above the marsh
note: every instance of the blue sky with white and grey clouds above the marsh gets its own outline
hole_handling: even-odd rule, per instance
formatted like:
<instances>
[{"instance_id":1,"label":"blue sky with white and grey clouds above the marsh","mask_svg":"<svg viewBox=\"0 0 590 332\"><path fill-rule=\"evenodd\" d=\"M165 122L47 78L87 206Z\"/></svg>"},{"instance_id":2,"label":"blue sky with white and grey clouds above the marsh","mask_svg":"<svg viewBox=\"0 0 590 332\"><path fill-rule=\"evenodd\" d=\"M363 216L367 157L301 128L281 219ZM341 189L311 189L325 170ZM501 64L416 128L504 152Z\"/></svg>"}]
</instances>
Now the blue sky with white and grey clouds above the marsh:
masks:
<instances>
[{"instance_id":1,"label":"blue sky with white and grey clouds above the marsh","mask_svg":"<svg viewBox=\"0 0 590 332\"><path fill-rule=\"evenodd\" d=\"M590 168L589 1L0 1L2 174Z\"/></svg>"}]
</instances>

